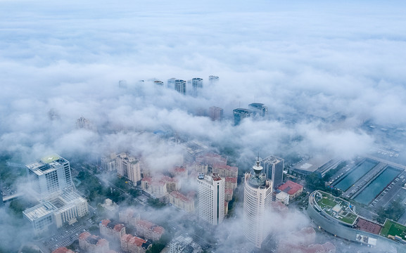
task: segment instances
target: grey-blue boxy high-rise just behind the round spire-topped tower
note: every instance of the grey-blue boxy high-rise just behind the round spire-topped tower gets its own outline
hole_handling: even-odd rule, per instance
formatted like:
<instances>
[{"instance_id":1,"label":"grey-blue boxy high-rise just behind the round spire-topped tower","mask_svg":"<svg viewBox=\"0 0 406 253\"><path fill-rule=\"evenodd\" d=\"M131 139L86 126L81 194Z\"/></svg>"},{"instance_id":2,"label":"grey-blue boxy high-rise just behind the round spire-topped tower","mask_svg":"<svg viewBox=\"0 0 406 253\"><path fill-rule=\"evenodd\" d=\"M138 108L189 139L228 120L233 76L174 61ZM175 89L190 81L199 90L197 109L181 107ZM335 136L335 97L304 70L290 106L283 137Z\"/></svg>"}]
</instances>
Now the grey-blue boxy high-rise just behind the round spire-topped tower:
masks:
<instances>
[{"instance_id":1,"label":"grey-blue boxy high-rise just behind the round spire-topped tower","mask_svg":"<svg viewBox=\"0 0 406 253\"><path fill-rule=\"evenodd\" d=\"M262 167L264 167L265 175L267 179L272 180L274 189L281 186L284 182L284 160L282 158L270 155L261 161Z\"/></svg>"}]
</instances>

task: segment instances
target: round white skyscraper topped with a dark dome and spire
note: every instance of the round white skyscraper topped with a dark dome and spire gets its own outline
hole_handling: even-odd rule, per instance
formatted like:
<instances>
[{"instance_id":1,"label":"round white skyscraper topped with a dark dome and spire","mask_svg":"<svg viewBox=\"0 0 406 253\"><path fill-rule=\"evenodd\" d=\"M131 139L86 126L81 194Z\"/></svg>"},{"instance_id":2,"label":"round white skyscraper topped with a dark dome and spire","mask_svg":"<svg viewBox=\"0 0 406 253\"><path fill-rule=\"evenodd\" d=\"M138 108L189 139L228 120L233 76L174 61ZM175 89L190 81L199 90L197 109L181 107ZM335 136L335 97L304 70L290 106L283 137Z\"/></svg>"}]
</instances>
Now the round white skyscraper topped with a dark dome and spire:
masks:
<instances>
[{"instance_id":1,"label":"round white skyscraper topped with a dark dome and spire","mask_svg":"<svg viewBox=\"0 0 406 253\"><path fill-rule=\"evenodd\" d=\"M272 181L262 173L259 157L253 170L254 174L245 174L243 232L255 247L260 248L269 233L265 221L269 221L266 218L272 204Z\"/></svg>"}]
</instances>

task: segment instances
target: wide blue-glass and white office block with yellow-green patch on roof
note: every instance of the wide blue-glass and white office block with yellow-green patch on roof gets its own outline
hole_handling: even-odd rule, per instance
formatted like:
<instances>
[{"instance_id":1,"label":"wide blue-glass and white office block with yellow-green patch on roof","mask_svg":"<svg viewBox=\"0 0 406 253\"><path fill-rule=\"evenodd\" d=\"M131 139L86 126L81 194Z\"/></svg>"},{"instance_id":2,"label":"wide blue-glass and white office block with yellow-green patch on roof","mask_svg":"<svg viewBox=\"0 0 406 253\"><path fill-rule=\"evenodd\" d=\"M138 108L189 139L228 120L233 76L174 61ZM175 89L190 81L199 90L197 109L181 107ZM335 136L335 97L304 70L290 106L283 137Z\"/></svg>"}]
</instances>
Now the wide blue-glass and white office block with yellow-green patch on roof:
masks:
<instances>
[{"instance_id":1,"label":"wide blue-glass and white office block with yellow-green patch on roof","mask_svg":"<svg viewBox=\"0 0 406 253\"><path fill-rule=\"evenodd\" d=\"M68 160L59 155L49 155L37 162L26 164L28 180L39 197L46 197L73 186Z\"/></svg>"}]
</instances>

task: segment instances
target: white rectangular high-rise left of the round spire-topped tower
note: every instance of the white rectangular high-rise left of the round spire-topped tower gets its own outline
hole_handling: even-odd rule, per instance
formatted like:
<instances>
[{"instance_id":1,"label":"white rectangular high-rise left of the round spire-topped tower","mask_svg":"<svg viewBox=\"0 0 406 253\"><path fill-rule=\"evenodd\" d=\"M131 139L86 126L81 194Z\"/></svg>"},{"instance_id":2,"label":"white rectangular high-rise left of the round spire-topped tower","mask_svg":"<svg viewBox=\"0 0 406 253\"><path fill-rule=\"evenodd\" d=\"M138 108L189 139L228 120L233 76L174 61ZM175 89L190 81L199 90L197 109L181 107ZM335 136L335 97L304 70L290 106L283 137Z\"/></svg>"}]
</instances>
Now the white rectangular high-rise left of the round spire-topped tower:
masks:
<instances>
[{"instance_id":1,"label":"white rectangular high-rise left of the round spire-topped tower","mask_svg":"<svg viewBox=\"0 0 406 253\"><path fill-rule=\"evenodd\" d=\"M212 174L199 174L198 178L198 215L212 225L222 223L224 219L224 179Z\"/></svg>"}]
</instances>

